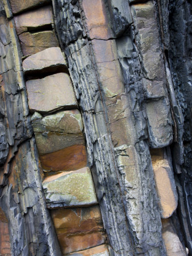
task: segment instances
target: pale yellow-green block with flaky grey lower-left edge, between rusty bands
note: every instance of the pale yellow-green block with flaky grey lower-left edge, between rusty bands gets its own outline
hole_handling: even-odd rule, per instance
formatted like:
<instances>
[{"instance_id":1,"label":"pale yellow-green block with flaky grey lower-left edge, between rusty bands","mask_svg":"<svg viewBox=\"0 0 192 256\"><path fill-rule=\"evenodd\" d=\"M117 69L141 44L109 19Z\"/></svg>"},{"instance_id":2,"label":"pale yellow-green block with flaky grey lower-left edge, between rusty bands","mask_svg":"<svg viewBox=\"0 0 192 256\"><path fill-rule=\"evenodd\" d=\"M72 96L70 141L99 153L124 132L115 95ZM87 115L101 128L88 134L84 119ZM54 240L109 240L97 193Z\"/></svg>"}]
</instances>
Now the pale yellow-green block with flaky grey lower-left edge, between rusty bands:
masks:
<instances>
[{"instance_id":1,"label":"pale yellow-green block with flaky grey lower-left edge, between rusty bands","mask_svg":"<svg viewBox=\"0 0 192 256\"><path fill-rule=\"evenodd\" d=\"M43 181L43 189L48 208L97 204L88 167L46 177Z\"/></svg>"}]
</instances>

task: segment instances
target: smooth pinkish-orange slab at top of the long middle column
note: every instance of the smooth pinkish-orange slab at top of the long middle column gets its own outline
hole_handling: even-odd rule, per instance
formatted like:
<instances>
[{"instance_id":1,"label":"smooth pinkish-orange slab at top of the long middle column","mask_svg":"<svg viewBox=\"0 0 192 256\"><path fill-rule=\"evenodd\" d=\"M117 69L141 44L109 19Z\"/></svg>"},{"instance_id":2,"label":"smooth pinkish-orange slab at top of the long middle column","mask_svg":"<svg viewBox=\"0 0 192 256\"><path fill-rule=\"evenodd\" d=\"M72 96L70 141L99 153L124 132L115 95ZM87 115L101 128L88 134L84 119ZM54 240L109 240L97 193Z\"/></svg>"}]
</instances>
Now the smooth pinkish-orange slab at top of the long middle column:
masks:
<instances>
[{"instance_id":1,"label":"smooth pinkish-orange slab at top of the long middle column","mask_svg":"<svg viewBox=\"0 0 192 256\"><path fill-rule=\"evenodd\" d=\"M91 39L109 39L113 37L110 23L108 22L107 13L102 0L83 0L82 6L86 18L86 26Z\"/></svg>"}]
</instances>

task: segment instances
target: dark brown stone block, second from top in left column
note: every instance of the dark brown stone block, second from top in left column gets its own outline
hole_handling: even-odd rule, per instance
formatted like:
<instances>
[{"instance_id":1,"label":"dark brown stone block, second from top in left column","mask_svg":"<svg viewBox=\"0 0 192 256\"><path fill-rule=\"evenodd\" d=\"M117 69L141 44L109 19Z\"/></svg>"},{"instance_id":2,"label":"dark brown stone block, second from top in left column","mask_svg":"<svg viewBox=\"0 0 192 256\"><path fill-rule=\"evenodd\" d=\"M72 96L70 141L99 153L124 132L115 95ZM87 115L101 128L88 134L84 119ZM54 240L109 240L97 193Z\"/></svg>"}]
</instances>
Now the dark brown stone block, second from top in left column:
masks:
<instances>
[{"instance_id":1,"label":"dark brown stone block, second from top in left column","mask_svg":"<svg viewBox=\"0 0 192 256\"><path fill-rule=\"evenodd\" d=\"M32 55L49 47L58 47L54 31L24 32L19 35L23 55Z\"/></svg>"}]
</instances>

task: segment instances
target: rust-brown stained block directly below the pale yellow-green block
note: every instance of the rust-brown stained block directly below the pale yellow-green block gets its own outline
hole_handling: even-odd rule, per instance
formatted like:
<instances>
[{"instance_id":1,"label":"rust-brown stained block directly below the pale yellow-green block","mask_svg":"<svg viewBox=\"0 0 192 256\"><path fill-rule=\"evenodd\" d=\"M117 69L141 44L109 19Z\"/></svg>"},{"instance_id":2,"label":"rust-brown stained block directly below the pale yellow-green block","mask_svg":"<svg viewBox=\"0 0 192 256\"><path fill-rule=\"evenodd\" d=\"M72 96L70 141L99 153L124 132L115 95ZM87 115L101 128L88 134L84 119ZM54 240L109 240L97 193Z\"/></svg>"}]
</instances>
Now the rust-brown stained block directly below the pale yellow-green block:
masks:
<instances>
[{"instance_id":1,"label":"rust-brown stained block directly below the pale yellow-green block","mask_svg":"<svg viewBox=\"0 0 192 256\"><path fill-rule=\"evenodd\" d=\"M98 205L89 208L51 210L51 215L63 254L101 245L106 240ZM90 252L106 250L104 246L95 248ZM81 255L91 255L87 253Z\"/></svg>"}]
</instances>

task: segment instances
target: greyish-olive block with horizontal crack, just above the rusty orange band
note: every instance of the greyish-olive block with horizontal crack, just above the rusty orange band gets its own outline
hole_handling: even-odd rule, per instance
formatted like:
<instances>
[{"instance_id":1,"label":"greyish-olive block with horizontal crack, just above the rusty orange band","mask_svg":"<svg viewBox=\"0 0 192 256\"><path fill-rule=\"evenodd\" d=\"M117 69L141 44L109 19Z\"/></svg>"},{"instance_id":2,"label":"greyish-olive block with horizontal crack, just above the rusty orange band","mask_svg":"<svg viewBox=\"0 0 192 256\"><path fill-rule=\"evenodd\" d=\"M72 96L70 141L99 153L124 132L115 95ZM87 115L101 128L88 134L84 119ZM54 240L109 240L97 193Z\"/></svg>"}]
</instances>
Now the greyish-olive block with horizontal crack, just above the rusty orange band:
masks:
<instances>
[{"instance_id":1,"label":"greyish-olive block with horizontal crack, just above the rusty orange band","mask_svg":"<svg viewBox=\"0 0 192 256\"><path fill-rule=\"evenodd\" d=\"M78 110L66 110L36 119L32 121L32 127L40 155L85 143L81 114Z\"/></svg>"}]
</instances>

